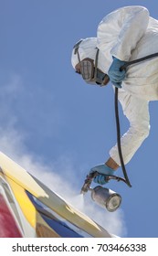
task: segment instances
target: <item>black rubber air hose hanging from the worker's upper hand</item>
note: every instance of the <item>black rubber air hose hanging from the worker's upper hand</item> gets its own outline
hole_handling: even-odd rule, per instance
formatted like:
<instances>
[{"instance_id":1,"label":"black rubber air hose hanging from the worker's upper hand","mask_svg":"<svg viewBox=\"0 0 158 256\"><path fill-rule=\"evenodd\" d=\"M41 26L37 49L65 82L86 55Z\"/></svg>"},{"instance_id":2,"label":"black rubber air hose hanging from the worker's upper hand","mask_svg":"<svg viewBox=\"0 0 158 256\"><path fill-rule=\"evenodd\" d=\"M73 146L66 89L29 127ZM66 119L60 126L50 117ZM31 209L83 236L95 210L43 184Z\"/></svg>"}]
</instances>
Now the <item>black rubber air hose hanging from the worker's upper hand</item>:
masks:
<instances>
[{"instance_id":1,"label":"black rubber air hose hanging from the worker's upper hand","mask_svg":"<svg viewBox=\"0 0 158 256\"><path fill-rule=\"evenodd\" d=\"M137 64L139 62L142 62L147 59L152 59L158 57L158 52L153 53L151 55L147 55L145 57L142 57L140 59L134 59L132 61L127 61L125 64L121 67L121 70L126 69L128 66L131 66L133 64ZM119 120L119 107L118 107L118 91L119 89L115 87L115 119L116 119L116 129L117 129L117 144L118 144L118 153L121 161L121 169L125 178L125 182L129 187L132 187L129 177L127 175L127 171L124 165L123 156L121 153L121 129L120 129L120 120Z\"/></svg>"}]
</instances>

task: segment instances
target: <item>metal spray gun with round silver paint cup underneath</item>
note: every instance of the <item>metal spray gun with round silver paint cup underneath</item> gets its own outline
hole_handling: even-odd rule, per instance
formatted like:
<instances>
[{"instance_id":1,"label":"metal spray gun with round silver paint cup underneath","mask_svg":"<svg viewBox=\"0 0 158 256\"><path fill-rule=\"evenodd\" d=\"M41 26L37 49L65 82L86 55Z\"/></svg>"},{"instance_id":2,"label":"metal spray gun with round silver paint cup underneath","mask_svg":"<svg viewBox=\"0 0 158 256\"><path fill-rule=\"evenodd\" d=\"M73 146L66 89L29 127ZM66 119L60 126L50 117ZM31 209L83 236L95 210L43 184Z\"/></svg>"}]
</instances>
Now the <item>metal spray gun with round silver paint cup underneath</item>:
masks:
<instances>
[{"instance_id":1,"label":"metal spray gun with round silver paint cup underneath","mask_svg":"<svg viewBox=\"0 0 158 256\"><path fill-rule=\"evenodd\" d=\"M109 211L115 211L117 208L121 205L121 196L112 191L111 189L107 187L101 187L97 186L94 188L91 188L91 182L95 176L98 176L98 172L90 173L88 176L86 176L85 182L83 184L83 187L81 187L80 194L85 195L88 191L91 192L91 198L93 201L95 201L100 207L107 208ZM105 176L105 180L108 182L111 179L115 179L117 181L123 181L126 183L126 180L120 176Z\"/></svg>"}]
</instances>

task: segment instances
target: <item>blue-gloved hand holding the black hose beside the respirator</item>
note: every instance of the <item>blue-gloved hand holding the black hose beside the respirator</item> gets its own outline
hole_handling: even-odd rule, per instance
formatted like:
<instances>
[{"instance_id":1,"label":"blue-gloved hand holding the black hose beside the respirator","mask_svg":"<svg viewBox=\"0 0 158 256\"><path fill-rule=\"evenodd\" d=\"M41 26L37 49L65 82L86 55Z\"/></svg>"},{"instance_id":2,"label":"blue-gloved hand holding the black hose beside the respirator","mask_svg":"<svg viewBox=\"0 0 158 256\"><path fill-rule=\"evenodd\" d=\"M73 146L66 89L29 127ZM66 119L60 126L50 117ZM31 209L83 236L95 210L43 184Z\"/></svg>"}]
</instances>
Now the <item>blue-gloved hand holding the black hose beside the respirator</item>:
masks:
<instances>
[{"instance_id":1,"label":"blue-gloved hand holding the black hose beside the respirator","mask_svg":"<svg viewBox=\"0 0 158 256\"><path fill-rule=\"evenodd\" d=\"M122 61L115 57L112 57L113 62L108 71L108 75L110 77L111 83L117 88L121 88L121 82L124 80L126 75L126 70L121 70L121 67L126 63L126 61Z\"/></svg>"}]
</instances>

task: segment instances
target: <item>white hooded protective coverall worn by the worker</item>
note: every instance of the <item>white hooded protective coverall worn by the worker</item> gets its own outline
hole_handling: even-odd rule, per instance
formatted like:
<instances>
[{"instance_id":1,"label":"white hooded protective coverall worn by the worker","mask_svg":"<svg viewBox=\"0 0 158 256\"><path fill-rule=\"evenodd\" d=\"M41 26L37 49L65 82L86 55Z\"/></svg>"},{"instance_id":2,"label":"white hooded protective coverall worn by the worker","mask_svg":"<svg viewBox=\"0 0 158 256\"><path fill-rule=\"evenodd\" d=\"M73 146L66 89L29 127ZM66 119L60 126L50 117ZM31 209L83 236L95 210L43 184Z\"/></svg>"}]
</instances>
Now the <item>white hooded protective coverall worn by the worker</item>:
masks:
<instances>
[{"instance_id":1,"label":"white hooded protective coverall worn by the worker","mask_svg":"<svg viewBox=\"0 0 158 256\"><path fill-rule=\"evenodd\" d=\"M122 7L102 19L97 38L90 37L83 40L79 48L80 60L95 59L95 43L100 48L99 69L108 73L112 56L129 61L158 52L158 21L149 16L145 7L134 5ZM79 59L73 52L71 61L75 68ZM121 137L125 164L132 159L149 134L148 105L149 101L156 100L158 100L158 58L130 66L119 89L119 101L123 113L130 122L129 130ZM121 165L117 145L111 148L110 155L118 165Z\"/></svg>"}]
</instances>

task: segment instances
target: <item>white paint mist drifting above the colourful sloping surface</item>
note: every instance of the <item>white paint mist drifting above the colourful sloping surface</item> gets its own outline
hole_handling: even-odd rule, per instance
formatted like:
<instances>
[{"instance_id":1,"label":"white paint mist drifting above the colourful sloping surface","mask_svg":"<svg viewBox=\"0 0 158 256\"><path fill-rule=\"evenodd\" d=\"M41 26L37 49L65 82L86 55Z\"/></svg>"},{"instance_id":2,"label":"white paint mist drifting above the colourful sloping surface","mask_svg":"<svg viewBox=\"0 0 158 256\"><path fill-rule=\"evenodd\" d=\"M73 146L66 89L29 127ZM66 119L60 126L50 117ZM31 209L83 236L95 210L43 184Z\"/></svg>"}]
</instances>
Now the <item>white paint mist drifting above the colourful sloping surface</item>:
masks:
<instances>
[{"instance_id":1,"label":"white paint mist drifting above the colourful sloping surface","mask_svg":"<svg viewBox=\"0 0 158 256\"><path fill-rule=\"evenodd\" d=\"M10 81L8 83L7 87L2 87L3 91L7 93L9 104L7 104L5 123L0 124L0 150L16 161L17 164L26 168L29 173L36 176L46 184L47 187L68 200L75 208L79 208L79 210L90 216L91 219L98 222L102 227L115 235L125 235L126 228L123 220L123 212L121 210L109 213L96 206L89 196L83 199L83 197L79 195L79 187L75 185L78 182L77 174L81 166L76 169L73 159L68 155L62 157L58 156L56 162L46 165L44 159L37 157L36 154L30 153L31 149L28 150L26 148L26 133L25 131L24 133L19 133L16 128L16 112L13 112L12 109L12 95L13 92L16 93L16 91L19 91L20 81L20 77L16 76L12 82ZM3 91L1 91L1 93L3 93ZM0 102L1 110L5 109L5 104L5 101Z\"/></svg>"}]
</instances>

